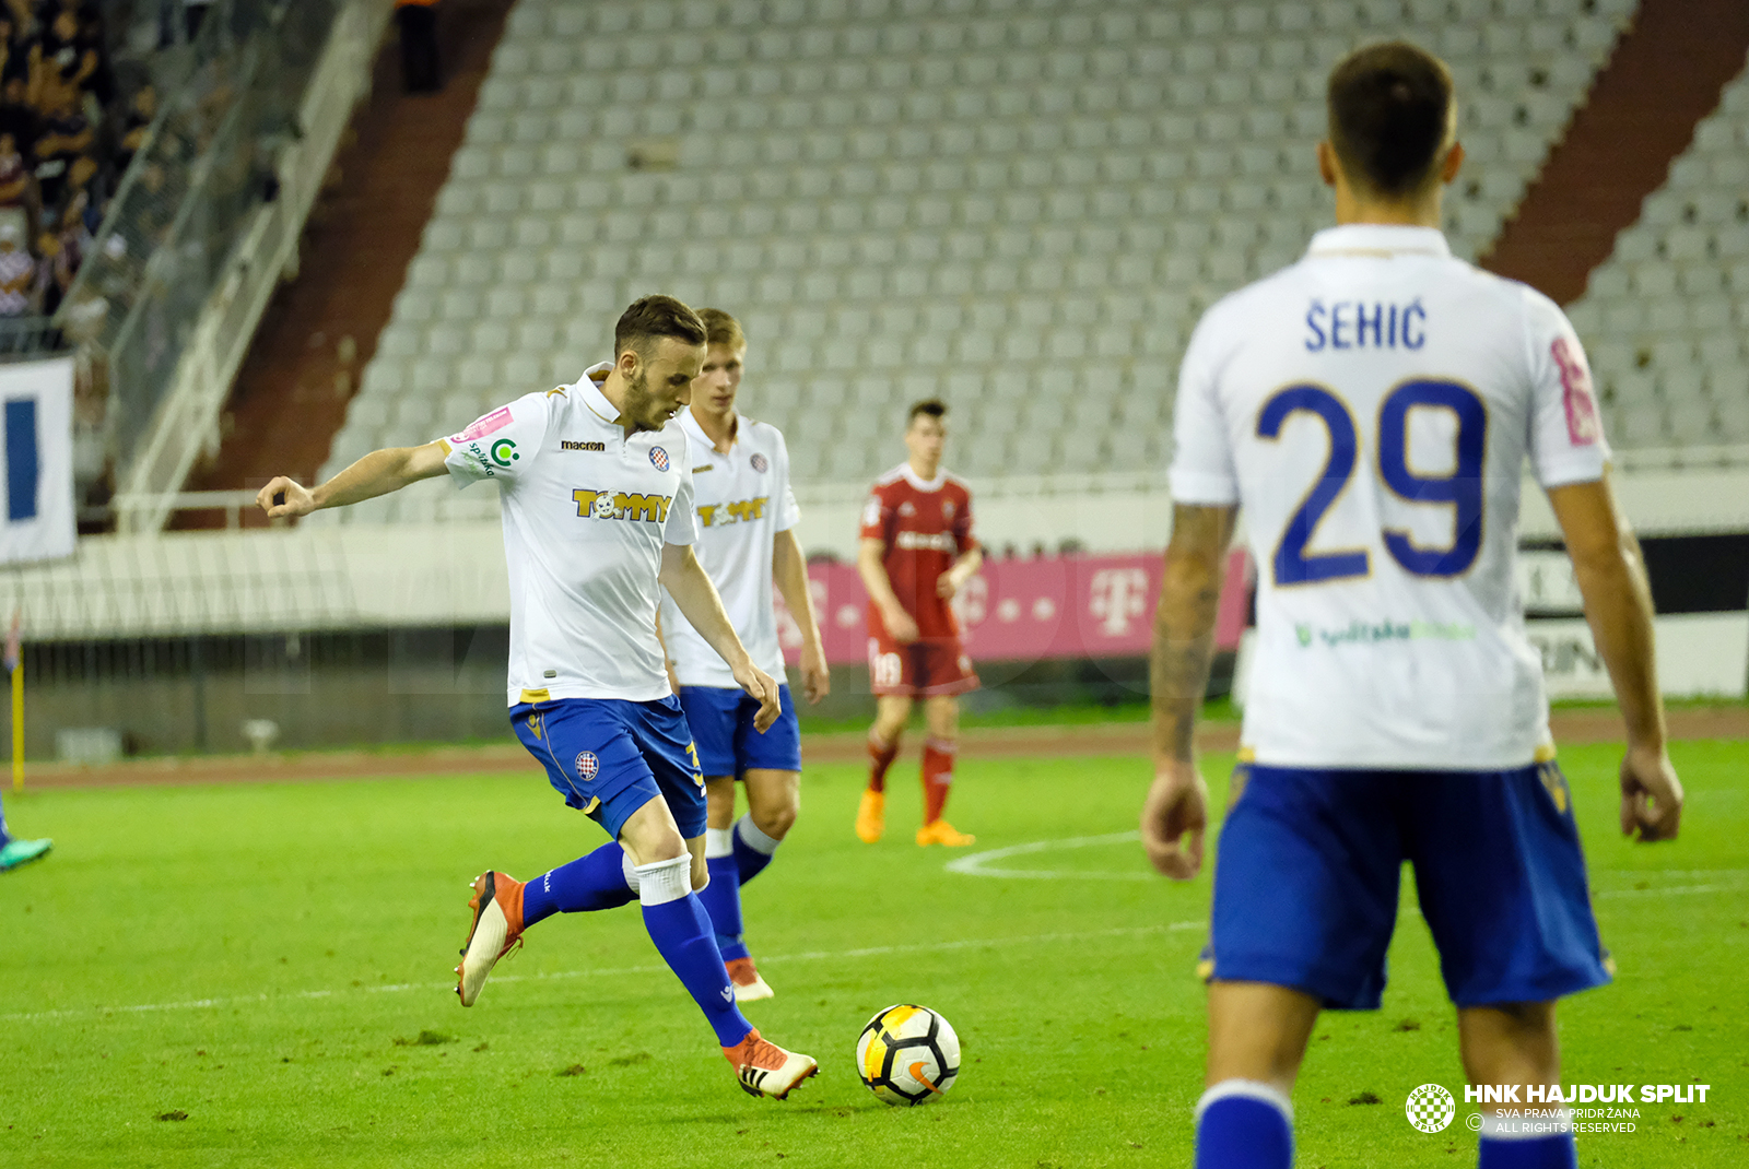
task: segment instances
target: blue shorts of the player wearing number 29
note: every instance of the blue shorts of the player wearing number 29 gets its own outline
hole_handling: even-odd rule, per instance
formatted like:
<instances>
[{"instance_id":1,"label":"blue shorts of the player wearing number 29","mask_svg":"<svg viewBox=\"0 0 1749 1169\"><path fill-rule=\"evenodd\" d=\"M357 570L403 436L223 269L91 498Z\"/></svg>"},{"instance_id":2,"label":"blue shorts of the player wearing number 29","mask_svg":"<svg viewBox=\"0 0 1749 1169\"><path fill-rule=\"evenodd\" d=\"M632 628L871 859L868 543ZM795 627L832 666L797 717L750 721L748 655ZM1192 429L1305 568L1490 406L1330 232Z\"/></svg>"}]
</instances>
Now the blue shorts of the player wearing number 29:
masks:
<instances>
[{"instance_id":1,"label":"blue shorts of the player wearing number 29","mask_svg":"<svg viewBox=\"0 0 1749 1169\"><path fill-rule=\"evenodd\" d=\"M1609 982L1567 779L1245 765L1221 828L1203 973L1376 1010L1403 861L1459 1006Z\"/></svg>"}]
</instances>

